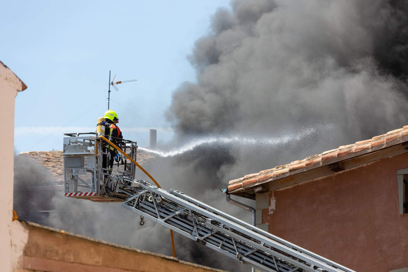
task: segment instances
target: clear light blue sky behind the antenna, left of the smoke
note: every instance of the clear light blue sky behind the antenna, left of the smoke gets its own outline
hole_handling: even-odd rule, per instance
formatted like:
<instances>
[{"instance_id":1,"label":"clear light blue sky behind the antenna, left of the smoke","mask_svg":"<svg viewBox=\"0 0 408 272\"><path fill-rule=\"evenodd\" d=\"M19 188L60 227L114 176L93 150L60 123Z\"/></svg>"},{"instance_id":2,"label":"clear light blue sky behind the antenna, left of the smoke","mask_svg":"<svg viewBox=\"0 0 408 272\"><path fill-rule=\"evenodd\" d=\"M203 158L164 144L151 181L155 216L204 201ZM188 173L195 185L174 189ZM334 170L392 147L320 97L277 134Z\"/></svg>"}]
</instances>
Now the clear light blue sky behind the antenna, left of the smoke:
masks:
<instances>
[{"instance_id":1,"label":"clear light blue sky behind the antenna, left of the smoke","mask_svg":"<svg viewBox=\"0 0 408 272\"><path fill-rule=\"evenodd\" d=\"M186 59L209 31L218 1L7 1L2 3L0 60L28 86L16 97L17 152L61 150L63 133L93 131L110 109L126 139L171 139L164 112L184 81ZM7 27L4 27L7 26Z\"/></svg>"}]
</instances>

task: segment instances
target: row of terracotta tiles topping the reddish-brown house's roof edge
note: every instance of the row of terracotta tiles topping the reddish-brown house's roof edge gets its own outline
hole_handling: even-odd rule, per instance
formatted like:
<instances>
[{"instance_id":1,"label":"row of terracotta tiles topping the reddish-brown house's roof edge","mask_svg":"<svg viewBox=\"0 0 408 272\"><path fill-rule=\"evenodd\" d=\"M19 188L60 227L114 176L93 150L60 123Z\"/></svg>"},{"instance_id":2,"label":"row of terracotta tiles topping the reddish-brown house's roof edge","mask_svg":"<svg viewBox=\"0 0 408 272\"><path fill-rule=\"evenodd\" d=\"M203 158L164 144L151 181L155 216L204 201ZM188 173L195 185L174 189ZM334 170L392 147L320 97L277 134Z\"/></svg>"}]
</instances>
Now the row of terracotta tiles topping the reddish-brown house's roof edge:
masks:
<instances>
[{"instance_id":1,"label":"row of terracotta tiles topping the reddish-brown house's roof edge","mask_svg":"<svg viewBox=\"0 0 408 272\"><path fill-rule=\"evenodd\" d=\"M229 181L228 192L240 189L251 188L252 186L280 179L309 169L328 165L336 161L341 161L351 157L365 155L383 148L408 142L408 125L403 128L389 131L386 134L375 136L371 139L339 146L332 150L324 151L321 154L308 156L305 159L292 161L290 164L276 166L275 168L262 170L259 173L246 175L239 179Z\"/></svg>"}]
</instances>

